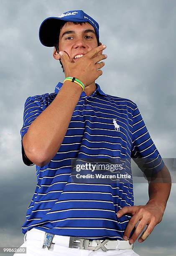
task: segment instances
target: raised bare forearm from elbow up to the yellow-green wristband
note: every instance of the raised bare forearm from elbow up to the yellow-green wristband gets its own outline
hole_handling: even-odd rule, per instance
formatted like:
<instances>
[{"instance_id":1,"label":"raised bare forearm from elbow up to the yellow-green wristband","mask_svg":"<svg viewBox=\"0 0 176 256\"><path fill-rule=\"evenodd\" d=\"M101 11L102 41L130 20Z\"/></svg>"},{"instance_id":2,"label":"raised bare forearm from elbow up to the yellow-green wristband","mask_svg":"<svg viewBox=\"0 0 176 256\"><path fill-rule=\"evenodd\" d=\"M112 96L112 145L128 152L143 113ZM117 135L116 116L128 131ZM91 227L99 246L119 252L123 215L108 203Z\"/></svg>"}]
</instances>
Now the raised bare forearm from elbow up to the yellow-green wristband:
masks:
<instances>
[{"instance_id":1,"label":"raised bare forearm from elbow up to the yellow-green wristband","mask_svg":"<svg viewBox=\"0 0 176 256\"><path fill-rule=\"evenodd\" d=\"M59 150L81 92L79 85L64 82L53 102L28 128L26 140L31 159L36 159L42 166Z\"/></svg>"}]
</instances>

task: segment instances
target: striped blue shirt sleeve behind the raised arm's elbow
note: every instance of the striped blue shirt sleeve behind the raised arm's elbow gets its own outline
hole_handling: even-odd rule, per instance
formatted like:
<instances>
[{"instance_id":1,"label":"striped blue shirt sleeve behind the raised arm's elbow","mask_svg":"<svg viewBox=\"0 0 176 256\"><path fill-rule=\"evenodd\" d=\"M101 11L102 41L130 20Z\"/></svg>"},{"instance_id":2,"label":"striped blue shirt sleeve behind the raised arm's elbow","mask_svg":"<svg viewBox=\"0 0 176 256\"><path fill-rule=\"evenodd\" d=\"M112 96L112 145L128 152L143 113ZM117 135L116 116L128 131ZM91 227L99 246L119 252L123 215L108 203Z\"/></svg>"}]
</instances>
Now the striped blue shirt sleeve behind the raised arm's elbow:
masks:
<instances>
[{"instance_id":1,"label":"striped blue shirt sleeve behind the raised arm's elbow","mask_svg":"<svg viewBox=\"0 0 176 256\"><path fill-rule=\"evenodd\" d=\"M28 159L28 157L25 154L24 148L23 148L23 136L25 133L27 133L29 126L35 120L38 115L41 114L43 109L40 106L40 103L38 101L35 101L33 97L28 97L25 105L24 105L24 112L23 112L23 126L20 130L21 135L21 151L22 151L22 159L23 163L27 166L32 166L34 163Z\"/></svg>"}]
</instances>

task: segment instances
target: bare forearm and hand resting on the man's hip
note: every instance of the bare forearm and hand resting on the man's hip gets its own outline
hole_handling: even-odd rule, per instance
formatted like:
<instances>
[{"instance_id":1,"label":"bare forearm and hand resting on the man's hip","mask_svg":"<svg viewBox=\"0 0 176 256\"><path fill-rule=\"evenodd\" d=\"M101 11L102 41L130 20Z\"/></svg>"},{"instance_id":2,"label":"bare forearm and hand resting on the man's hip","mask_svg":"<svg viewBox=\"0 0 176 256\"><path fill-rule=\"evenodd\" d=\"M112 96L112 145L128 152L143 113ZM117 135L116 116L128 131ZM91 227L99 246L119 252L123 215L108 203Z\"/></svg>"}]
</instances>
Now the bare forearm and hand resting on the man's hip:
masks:
<instances>
[{"instance_id":1,"label":"bare forearm and hand resting on the man's hip","mask_svg":"<svg viewBox=\"0 0 176 256\"><path fill-rule=\"evenodd\" d=\"M133 235L130 237L129 243L135 242L140 233L147 225L145 231L138 239L139 242L145 241L145 239L153 231L153 228L161 222L166 208L166 203L171 191L171 176L164 165L163 169L160 172L157 172L153 175L152 181L148 177L148 194L149 201L146 205L134 205L134 206L125 206L120 209L117 213L117 217L120 218L124 214L132 214L133 217L128 222L128 225L125 229L123 239L127 241L130 237L130 233L135 228ZM138 223L139 221L139 223ZM137 227L135 227L137 225Z\"/></svg>"}]
</instances>

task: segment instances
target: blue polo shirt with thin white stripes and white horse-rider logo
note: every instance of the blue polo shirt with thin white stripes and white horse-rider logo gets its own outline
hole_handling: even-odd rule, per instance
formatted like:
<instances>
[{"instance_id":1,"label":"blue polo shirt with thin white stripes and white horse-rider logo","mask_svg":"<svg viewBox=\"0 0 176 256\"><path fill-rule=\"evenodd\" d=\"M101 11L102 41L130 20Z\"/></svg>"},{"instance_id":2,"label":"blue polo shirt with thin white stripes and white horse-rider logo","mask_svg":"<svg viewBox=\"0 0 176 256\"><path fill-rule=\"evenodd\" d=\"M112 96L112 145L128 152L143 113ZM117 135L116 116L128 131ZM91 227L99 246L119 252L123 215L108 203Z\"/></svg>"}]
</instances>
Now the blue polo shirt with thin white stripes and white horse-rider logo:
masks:
<instances>
[{"instance_id":1,"label":"blue polo shirt with thin white stripes and white horse-rider logo","mask_svg":"<svg viewBox=\"0 0 176 256\"><path fill-rule=\"evenodd\" d=\"M25 102L20 134L23 161L28 166L33 163L24 154L22 138L62 85L59 82L55 92L28 97ZM37 185L22 226L24 234L37 228L61 236L123 240L132 215L117 218L116 213L124 206L134 205L133 180L117 184L71 182L71 160L96 157L159 159L156 172L164 165L137 105L105 94L97 83L91 95L81 93L54 158L45 166L36 166Z\"/></svg>"}]
</instances>

